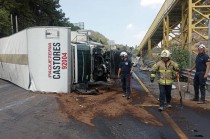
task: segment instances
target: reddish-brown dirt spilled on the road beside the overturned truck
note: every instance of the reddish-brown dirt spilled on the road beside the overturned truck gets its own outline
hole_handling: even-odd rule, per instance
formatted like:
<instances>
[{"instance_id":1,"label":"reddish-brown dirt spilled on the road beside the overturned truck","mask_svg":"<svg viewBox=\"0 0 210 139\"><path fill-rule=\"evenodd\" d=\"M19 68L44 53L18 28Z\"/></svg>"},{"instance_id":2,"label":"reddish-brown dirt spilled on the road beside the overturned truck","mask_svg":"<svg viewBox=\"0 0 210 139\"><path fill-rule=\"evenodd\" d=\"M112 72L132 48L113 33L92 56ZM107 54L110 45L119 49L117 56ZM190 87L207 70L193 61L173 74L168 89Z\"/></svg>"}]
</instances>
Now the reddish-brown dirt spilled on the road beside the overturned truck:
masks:
<instances>
[{"instance_id":1,"label":"reddish-brown dirt spilled on the road beside the overturned truck","mask_svg":"<svg viewBox=\"0 0 210 139\"><path fill-rule=\"evenodd\" d=\"M57 100L62 113L90 126L94 126L93 120L97 116L118 118L123 115L131 115L146 124L163 126L159 119L142 106L147 104L156 105L154 98L132 89L131 99L127 100L122 97L119 85L115 84L110 89L104 86L97 87L100 92L98 95L58 94Z\"/></svg>"}]
</instances>

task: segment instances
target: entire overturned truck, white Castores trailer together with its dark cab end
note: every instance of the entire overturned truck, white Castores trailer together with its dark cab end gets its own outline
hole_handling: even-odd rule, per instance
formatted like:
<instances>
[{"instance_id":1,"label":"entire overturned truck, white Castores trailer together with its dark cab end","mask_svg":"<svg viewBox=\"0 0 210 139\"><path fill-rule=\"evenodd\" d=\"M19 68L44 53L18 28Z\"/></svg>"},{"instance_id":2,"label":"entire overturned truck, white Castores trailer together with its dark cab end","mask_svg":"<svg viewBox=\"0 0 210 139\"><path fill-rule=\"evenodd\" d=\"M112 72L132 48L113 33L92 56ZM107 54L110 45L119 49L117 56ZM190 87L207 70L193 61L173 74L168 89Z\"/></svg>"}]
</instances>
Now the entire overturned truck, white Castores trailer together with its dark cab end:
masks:
<instances>
[{"instance_id":1,"label":"entire overturned truck, white Castores trailer together with its dark cab end","mask_svg":"<svg viewBox=\"0 0 210 139\"><path fill-rule=\"evenodd\" d=\"M119 53L71 42L70 28L27 28L0 39L0 78L26 90L68 93L76 84L116 78Z\"/></svg>"}]
</instances>

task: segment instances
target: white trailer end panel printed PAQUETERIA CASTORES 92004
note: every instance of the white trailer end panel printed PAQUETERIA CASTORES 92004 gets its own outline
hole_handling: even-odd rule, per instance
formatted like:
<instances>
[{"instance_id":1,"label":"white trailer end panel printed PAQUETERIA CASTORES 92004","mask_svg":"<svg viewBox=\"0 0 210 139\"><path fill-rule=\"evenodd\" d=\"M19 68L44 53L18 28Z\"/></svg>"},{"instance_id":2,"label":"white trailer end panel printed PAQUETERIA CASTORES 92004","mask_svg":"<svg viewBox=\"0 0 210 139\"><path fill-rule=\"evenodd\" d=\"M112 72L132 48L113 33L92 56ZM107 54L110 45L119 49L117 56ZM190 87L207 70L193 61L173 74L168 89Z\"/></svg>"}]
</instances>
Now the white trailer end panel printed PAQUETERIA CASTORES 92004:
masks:
<instances>
[{"instance_id":1,"label":"white trailer end panel printed PAQUETERIA CASTORES 92004","mask_svg":"<svg viewBox=\"0 0 210 139\"><path fill-rule=\"evenodd\" d=\"M57 93L70 91L69 31L62 27L28 29L30 90Z\"/></svg>"}]
</instances>

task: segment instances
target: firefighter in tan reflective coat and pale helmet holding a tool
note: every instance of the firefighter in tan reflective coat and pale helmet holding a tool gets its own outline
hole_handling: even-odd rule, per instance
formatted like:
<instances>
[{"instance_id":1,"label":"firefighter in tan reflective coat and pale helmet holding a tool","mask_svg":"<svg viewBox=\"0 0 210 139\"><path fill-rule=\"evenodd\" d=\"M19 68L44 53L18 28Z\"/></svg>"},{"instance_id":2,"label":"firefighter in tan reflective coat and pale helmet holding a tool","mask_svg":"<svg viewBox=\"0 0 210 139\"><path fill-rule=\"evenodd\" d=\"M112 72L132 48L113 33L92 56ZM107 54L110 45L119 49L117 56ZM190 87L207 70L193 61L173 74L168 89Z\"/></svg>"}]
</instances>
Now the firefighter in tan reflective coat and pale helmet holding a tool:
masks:
<instances>
[{"instance_id":1,"label":"firefighter in tan reflective coat and pale helmet holding a tool","mask_svg":"<svg viewBox=\"0 0 210 139\"><path fill-rule=\"evenodd\" d=\"M157 62L153 67L150 75L150 81L154 82L156 73L159 75L159 101L160 111L164 110L164 103L166 99L166 107L171 108L171 89L173 83L173 73L179 71L178 64L170 60L171 53L168 50L163 50L160 54L161 60Z\"/></svg>"}]
</instances>

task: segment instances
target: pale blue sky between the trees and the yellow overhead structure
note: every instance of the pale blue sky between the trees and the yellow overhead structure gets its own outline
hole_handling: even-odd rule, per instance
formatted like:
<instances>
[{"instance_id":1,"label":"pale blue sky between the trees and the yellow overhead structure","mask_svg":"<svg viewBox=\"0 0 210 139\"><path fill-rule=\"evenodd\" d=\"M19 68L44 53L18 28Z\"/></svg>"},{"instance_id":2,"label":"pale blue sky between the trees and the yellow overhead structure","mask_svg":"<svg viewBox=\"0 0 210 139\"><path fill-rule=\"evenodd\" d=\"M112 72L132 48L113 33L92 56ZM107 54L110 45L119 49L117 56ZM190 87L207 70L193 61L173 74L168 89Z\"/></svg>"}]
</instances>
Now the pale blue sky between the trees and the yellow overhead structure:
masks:
<instances>
[{"instance_id":1,"label":"pale blue sky between the trees and the yellow overhead structure","mask_svg":"<svg viewBox=\"0 0 210 139\"><path fill-rule=\"evenodd\" d=\"M103 34L116 44L138 46L165 0L60 0L71 23Z\"/></svg>"}]
</instances>

